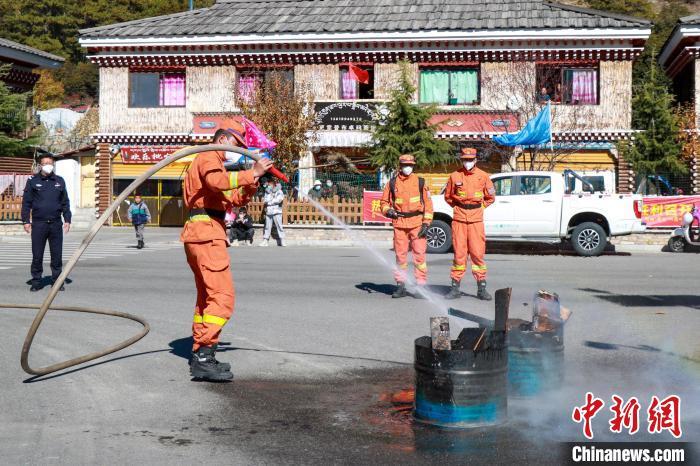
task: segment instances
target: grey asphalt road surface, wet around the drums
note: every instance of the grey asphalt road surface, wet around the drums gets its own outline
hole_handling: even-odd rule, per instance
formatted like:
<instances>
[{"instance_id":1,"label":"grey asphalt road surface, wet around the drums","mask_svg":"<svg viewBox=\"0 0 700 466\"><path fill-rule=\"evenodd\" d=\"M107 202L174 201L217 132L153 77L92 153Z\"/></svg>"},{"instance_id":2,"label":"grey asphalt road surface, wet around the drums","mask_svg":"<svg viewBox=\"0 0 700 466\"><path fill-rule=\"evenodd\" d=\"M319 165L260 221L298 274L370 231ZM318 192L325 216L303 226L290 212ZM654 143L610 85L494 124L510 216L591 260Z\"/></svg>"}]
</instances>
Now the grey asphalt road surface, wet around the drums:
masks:
<instances>
[{"instance_id":1,"label":"grey asphalt road surface, wet around the drums","mask_svg":"<svg viewBox=\"0 0 700 466\"><path fill-rule=\"evenodd\" d=\"M147 244L176 239L175 230L159 231ZM112 230L98 237L94 251L132 242L130 231ZM28 378L19 350L33 313L0 310L3 462L558 464L559 442L582 438L570 415L586 391L608 402L613 393L637 396L643 414L651 395L677 393L684 438L700 434L697 254L490 255L490 287L513 287L513 317L527 317L524 303L538 288L559 292L574 311L566 328L566 384L544 399L511 399L502 426L443 432L413 425L382 401L411 386L413 340L428 333L431 315L444 312L439 299L390 299L390 273L360 248L230 251L237 312L221 355L234 366L230 384L188 377L194 287L179 247L81 262L57 302L121 309L152 326L136 345L87 367ZM379 254L391 261L389 251ZM433 290L444 292L450 257L428 262ZM28 292L27 269L0 270L2 301L38 303L46 294ZM475 290L469 284L465 291ZM475 319L493 317L492 304L473 297L450 305ZM32 364L136 331L119 319L50 313ZM608 419L606 406L593 423L596 439L621 438L605 432Z\"/></svg>"}]
</instances>

